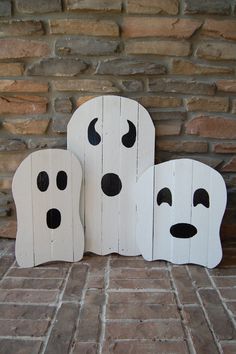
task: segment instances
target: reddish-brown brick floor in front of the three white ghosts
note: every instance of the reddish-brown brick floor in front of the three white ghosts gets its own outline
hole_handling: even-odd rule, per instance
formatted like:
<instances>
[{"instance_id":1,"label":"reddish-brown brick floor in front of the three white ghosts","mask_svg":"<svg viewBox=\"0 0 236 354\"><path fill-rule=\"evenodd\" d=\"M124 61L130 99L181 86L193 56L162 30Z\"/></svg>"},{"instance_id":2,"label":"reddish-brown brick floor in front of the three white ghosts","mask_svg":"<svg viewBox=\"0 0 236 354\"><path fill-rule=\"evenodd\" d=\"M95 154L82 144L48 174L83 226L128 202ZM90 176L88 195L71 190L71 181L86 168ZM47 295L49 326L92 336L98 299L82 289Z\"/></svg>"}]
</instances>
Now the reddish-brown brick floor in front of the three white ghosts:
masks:
<instances>
[{"instance_id":1,"label":"reddish-brown brick floor in front of the three white ghosts","mask_svg":"<svg viewBox=\"0 0 236 354\"><path fill-rule=\"evenodd\" d=\"M0 353L236 353L225 254L213 270L118 255L20 269L14 241L0 239Z\"/></svg>"}]
</instances>

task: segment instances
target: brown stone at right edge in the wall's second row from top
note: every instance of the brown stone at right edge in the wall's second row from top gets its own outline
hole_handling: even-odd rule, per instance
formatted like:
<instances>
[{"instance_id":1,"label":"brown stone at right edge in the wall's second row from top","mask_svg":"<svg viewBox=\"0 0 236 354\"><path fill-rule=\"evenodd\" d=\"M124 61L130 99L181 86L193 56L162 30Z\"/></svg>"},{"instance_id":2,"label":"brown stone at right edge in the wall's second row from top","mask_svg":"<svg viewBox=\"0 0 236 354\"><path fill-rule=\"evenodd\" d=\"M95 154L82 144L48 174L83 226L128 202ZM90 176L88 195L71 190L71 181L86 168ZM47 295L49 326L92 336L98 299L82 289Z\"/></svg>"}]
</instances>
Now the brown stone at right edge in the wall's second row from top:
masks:
<instances>
[{"instance_id":1,"label":"brown stone at right edge in the wall's second row from top","mask_svg":"<svg viewBox=\"0 0 236 354\"><path fill-rule=\"evenodd\" d=\"M218 37L236 40L235 20L206 19L201 34L208 37Z\"/></svg>"}]
</instances>

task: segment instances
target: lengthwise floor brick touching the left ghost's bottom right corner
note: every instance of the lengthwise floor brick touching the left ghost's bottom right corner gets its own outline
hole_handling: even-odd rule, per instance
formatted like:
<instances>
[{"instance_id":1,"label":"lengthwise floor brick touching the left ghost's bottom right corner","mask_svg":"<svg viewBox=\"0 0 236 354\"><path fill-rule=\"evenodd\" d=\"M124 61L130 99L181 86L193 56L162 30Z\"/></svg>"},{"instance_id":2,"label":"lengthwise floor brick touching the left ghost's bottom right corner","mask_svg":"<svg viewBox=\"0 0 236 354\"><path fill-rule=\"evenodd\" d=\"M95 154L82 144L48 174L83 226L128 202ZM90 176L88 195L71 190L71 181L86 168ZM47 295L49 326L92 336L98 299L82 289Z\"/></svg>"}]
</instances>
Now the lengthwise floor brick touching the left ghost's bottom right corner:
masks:
<instances>
[{"instance_id":1,"label":"lengthwise floor brick touching the left ghost's bottom right corner","mask_svg":"<svg viewBox=\"0 0 236 354\"><path fill-rule=\"evenodd\" d=\"M63 295L64 301L80 301L85 285L88 266L73 264Z\"/></svg>"}]
</instances>

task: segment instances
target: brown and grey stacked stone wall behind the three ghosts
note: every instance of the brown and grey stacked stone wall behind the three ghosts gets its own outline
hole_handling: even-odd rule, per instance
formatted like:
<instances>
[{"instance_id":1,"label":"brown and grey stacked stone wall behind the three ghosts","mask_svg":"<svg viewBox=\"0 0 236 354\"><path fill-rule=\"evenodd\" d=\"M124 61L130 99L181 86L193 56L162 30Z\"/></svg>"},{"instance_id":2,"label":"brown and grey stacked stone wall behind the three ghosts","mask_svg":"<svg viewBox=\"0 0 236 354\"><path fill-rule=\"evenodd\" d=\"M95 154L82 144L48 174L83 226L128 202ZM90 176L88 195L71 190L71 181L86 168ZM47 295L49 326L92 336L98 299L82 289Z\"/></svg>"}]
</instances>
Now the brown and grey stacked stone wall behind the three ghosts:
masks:
<instances>
[{"instance_id":1,"label":"brown and grey stacked stone wall behind the three ghosts","mask_svg":"<svg viewBox=\"0 0 236 354\"><path fill-rule=\"evenodd\" d=\"M42 148L65 148L72 112L119 94L150 112L156 161L216 168L236 231L236 4L233 0L0 1L0 235L15 237L11 181Z\"/></svg>"}]
</instances>

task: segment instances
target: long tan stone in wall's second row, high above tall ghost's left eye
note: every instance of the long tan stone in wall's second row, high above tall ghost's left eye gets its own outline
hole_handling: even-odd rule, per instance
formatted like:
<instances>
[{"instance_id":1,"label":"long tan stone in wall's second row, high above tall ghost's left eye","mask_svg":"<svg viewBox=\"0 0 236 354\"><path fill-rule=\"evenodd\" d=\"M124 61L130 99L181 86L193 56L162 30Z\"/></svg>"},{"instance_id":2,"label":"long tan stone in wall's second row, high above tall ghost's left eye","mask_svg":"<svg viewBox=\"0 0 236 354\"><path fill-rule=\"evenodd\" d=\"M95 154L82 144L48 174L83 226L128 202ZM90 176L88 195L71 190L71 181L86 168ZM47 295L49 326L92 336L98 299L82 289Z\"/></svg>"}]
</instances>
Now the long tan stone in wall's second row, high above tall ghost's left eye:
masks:
<instances>
[{"instance_id":1,"label":"long tan stone in wall's second row, high above tall ghost's left eye","mask_svg":"<svg viewBox=\"0 0 236 354\"><path fill-rule=\"evenodd\" d=\"M119 27L111 20L56 19L49 21L52 34L118 37Z\"/></svg>"}]
</instances>

